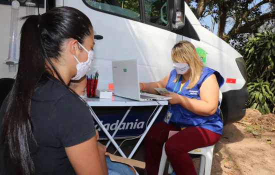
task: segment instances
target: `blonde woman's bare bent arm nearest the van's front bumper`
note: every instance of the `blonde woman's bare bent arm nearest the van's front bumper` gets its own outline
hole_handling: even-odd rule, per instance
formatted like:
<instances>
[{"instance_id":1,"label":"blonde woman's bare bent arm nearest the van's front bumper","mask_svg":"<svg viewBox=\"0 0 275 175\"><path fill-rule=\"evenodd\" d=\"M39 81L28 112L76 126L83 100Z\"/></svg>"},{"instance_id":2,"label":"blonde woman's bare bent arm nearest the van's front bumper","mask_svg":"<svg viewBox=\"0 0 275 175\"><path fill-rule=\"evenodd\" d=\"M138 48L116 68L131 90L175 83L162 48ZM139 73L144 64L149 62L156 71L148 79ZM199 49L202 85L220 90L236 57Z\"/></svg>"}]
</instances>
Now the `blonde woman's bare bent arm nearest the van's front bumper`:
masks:
<instances>
[{"instance_id":1,"label":"blonde woman's bare bent arm nearest the van's front bumper","mask_svg":"<svg viewBox=\"0 0 275 175\"><path fill-rule=\"evenodd\" d=\"M201 84L199 90L200 100L191 99L174 92L170 92L169 94L163 93L162 95L172 97L172 99L169 100L170 104L180 104L195 114L203 116L214 114L217 109L219 95L216 76L211 74L206 78Z\"/></svg>"}]
</instances>

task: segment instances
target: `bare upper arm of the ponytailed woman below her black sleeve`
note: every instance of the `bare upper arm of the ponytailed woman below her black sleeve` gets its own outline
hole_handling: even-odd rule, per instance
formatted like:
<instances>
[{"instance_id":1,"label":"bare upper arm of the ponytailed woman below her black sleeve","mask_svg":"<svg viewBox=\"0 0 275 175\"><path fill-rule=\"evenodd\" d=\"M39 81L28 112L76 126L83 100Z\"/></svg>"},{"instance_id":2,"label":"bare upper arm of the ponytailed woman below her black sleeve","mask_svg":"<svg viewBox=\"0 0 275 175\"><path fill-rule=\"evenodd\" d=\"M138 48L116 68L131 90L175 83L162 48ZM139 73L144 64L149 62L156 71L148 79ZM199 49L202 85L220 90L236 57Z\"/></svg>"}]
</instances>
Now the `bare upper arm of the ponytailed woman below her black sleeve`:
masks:
<instances>
[{"instance_id":1,"label":"bare upper arm of the ponytailed woman below her black sleeve","mask_svg":"<svg viewBox=\"0 0 275 175\"><path fill-rule=\"evenodd\" d=\"M108 174L107 165L103 167L100 160L96 136L82 143L65 147L65 151L76 174Z\"/></svg>"}]
</instances>

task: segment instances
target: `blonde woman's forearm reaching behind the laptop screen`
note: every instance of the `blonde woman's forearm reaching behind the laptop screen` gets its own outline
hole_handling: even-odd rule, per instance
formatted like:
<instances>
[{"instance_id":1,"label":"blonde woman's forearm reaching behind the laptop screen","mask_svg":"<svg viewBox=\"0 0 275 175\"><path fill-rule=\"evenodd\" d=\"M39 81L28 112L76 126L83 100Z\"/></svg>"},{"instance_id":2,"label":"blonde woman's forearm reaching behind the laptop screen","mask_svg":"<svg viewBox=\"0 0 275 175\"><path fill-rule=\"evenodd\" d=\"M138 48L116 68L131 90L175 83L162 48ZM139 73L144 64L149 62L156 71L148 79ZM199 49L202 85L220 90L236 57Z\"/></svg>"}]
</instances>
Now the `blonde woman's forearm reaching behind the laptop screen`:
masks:
<instances>
[{"instance_id":1,"label":"blonde woman's forearm reaching behind the laptop screen","mask_svg":"<svg viewBox=\"0 0 275 175\"><path fill-rule=\"evenodd\" d=\"M158 92L154 88L165 88L165 86L168 82L169 76L170 76L170 74L166 75L164 78L162 78L161 80L159 80L157 82L140 83L140 85L139 85L140 90L143 88L143 84L144 84L144 88L142 90L143 92L158 94Z\"/></svg>"}]
</instances>

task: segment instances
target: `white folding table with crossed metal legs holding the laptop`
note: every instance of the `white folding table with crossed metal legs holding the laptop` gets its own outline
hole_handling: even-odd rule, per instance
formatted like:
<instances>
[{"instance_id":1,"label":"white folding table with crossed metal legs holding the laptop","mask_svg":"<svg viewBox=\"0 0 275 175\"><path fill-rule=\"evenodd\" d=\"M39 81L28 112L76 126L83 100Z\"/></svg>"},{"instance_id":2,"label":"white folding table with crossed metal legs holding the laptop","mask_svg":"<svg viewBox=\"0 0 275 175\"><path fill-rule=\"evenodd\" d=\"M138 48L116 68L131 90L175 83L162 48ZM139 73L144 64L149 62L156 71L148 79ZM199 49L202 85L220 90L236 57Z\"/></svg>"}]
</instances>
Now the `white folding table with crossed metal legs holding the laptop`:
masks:
<instances>
[{"instance_id":1,"label":"white folding table with crossed metal legs holding the laptop","mask_svg":"<svg viewBox=\"0 0 275 175\"><path fill-rule=\"evenodd\" d=\"M158 106L155 114L153 115L153 117L152 117L151 121L149 122L148 126L146 127L144 133L141 135L138 142L136 143L136 145L134 146L133 150L131 151L130 155L127 158L131 158L133 156L133 154L135 153L137 147L140 145L141 141L143 140L146 133L150 129L151 125L153 124L154 120L156 119L159 112L161 111L163 105L168 104L167 100L161 100L161 101L136 101L136 100L133 100L133 99L123 98L123 97L120 97L120 96L113 96L112 99L86 98L86 102L89 106L92 106L92 107L94 107L94 106L129 106L129 108L127 109L126 113L124 114L123 118L119 122L118 126L116 127L116 129L114 130L112 135L109 134L109 132L107 131L107 129L105 128L103 123L100 122L99 118L97 117L97 115L95 113L94 113L94 116L93 116L94 119L98 122L98 125L101 127L101 129L104 131L104 133L109 138L109 141L106 144L106 147L108 147L110 142L113 143L115 148L118 150L118 152L123 157L126 157L126 155L119 148L118 144L115 142L113 137L116 134L116 132L118 131L120 125L122 124L122 122L124 121L124 119L126 118L128 113L130 112L132 106L153 106L153 105Z\"/></svg>"}]
</instances>

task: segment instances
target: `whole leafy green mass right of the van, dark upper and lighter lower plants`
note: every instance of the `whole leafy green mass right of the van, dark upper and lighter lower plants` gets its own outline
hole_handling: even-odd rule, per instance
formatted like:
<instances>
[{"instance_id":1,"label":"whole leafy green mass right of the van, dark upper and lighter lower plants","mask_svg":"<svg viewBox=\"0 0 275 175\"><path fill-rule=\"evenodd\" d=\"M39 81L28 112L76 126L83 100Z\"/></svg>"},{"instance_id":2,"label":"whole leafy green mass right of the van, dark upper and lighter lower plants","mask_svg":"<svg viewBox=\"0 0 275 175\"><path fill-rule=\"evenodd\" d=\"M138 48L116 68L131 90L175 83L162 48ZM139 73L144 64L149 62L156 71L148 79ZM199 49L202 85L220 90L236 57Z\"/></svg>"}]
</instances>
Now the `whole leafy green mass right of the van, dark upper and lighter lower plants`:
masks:
<instances>
[{"instance_id":1,"label":"whole leafy green mass right of the van, dark upper and lighter lower plants","mask_svg":"<svg viewBox=\"0 0 275 175\"><path fill-rule=\"evenodd\" d=\"M241 48L247 65L247 106L262 114L275 110L275 33L256 33Z\"/></svg>"}]
</instances>

